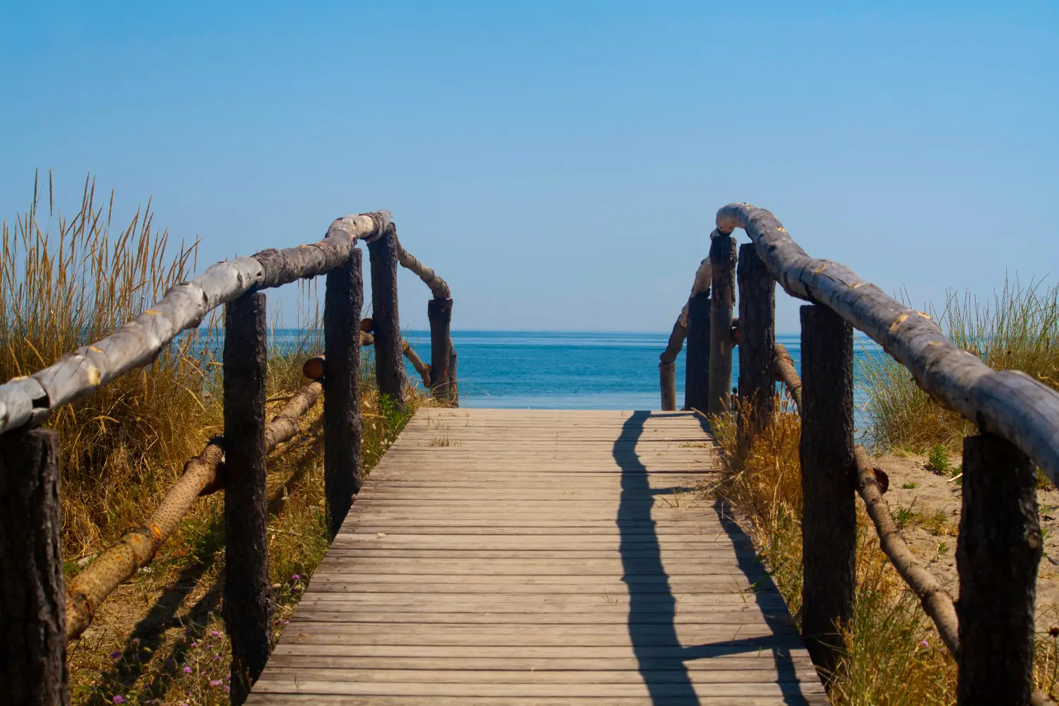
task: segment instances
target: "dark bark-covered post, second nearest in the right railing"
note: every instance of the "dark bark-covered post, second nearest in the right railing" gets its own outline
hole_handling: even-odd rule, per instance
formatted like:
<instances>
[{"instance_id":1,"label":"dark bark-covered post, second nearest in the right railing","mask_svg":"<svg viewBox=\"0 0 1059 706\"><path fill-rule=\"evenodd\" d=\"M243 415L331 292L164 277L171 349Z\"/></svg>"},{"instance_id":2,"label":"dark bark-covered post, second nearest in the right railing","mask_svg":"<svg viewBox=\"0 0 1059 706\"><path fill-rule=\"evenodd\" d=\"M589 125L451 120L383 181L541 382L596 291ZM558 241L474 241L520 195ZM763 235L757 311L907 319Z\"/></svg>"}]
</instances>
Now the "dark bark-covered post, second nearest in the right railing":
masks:
<instances>
[{"instance_id":1,"label":"dark bark-covered post, second nearest in the right railing","mask_svg":"<svg viewBox=\"0 0 1059 706\"><path fill-rule=\"evenodd\" d=\"M854 332L823 306L802 307L802 634L830 673L856 587Z\"/></svg>"}]
</instances>

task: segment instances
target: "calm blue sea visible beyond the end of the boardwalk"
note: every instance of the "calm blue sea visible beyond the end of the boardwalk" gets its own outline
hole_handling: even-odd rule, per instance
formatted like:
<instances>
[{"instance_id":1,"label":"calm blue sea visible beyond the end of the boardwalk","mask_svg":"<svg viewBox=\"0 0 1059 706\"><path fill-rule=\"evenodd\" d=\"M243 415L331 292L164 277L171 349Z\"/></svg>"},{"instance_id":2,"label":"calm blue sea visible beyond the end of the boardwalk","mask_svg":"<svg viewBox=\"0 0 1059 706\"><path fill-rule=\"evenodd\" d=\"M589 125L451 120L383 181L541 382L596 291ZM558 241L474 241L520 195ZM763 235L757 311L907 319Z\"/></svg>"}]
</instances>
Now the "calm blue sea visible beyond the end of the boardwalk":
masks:
<instances>
[{"instance_id":1,"label":"calm blue sea visible beyond the end of the boardwalk","mask_svg":"<svg viewBox=\"0 0 1059 706\"><path fill-rule=\"evenodd\" d=\"M430 333L408 331L430 360ZM469 408L657 410L659 356L668 332L453 331L460 404ZM777 336L801 370L798 334ZM866 339L864 340L870 343ZM735 349L733 385L739 369ZM858 357L864 345L858 342ZM411 379L418 379L408 367ZM860 396L858 396L860 397ZM684 352L677 359L677 403L684 399ZM860 400L859 400L860 401Z\"/></svg>"}]
</instances>

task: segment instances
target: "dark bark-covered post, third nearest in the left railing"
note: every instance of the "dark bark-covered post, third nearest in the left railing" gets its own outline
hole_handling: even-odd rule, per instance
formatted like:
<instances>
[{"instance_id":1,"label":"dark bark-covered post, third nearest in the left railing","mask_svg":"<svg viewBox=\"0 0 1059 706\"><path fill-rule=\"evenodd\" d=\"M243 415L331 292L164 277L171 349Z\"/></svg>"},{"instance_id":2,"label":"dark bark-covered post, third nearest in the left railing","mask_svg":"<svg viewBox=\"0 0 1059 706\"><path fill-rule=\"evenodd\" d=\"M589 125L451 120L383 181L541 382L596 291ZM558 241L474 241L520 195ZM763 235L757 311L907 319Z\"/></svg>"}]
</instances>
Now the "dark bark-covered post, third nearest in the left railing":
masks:
<instances>
[{"instance_id":1,"label":"dark bark-covered post, third nearest in the left railing","mask_svg":"<svg viewBox=\"0 0 1059 706\"><path fill-rule=\"evenodd\" d=\"M360 249L327 273L324 294L324 494L328 529L338 533L364 481L360 468L360 311L364 280Z\"/></svg>"}]
</instances>

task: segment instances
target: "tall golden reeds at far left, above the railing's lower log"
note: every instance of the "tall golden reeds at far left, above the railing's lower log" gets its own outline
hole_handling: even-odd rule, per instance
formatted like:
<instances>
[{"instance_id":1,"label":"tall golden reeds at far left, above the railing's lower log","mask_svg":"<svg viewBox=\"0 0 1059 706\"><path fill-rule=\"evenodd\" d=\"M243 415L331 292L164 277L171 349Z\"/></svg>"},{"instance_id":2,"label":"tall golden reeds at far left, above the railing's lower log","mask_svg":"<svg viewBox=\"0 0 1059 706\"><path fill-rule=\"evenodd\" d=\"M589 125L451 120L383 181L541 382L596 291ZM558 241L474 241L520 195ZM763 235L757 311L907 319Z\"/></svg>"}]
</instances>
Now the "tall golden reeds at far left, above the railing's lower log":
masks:
<instances>
[{"instance_id":1,"label":"tall golden reeds at far left, above the railing's lower log","mask_svg":"<svg viewBox=\"0 0 1059 706\"><path fill-rule=\"evenodd\" d=\"M197 241L170 247L168 233L152 229L149 201L114 229L113 194L97 203L91 178L72 216L55 210L53 194L51 175L47 193L34 180L30 207L13 224L2 224L4 380L31 375L108 336L196 265ZM198 339L195 332L183 336L149 366L56 411L50 426L61 445L68 556L137 522L215 426L218 415L203 403L210 351Z\"/></svg>"}]
</instances>

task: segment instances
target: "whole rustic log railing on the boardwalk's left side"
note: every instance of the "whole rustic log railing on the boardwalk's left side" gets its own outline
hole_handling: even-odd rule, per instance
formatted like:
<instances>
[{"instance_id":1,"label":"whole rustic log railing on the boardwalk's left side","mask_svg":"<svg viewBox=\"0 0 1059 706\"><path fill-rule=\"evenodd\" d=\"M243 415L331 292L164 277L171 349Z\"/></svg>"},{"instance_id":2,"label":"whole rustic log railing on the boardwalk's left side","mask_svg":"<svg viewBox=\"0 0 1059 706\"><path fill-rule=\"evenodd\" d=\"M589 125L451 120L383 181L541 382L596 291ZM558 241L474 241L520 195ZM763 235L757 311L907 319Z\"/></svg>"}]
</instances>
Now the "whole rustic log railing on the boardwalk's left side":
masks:
<instances>
[{"instance_id":1,"label":"whole rustic log railing on the boardwalk's left side","mask_svg":"<svg viewBox=\"0 0 1059 706\"><path fill-rule=\"evenodd\" d=\"M363 307L361 251L367 243L372 319ZM397 265L430 288L431 364L401 339ZM265 294L304 277L326 276L324 356L308 361L312 382L266 423L268 357ZM127 531L64 585L59 451L52 412L149 364L181 331L226 305L223 435L187 461L183 476L142 526ZM407 357L432 395L457 404L448 285L401 248L388 212L346 216L323 240L218 263L169 289L161 302L114 333L28 378L0 385L0 678L11 703L67 704L67 640L91 622L98 604L151 561L195 500L223 488L225 623L232 644L233 703L243 703L272 648L265 457L298 431L323 394L324 487L334 536L363 483L360 445L360 349L375 346L379 392L405 405ZM5 702L6 703L6 702Z\"/></svg>"}]
</instances>

